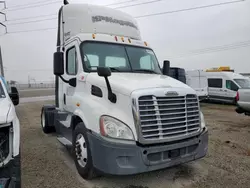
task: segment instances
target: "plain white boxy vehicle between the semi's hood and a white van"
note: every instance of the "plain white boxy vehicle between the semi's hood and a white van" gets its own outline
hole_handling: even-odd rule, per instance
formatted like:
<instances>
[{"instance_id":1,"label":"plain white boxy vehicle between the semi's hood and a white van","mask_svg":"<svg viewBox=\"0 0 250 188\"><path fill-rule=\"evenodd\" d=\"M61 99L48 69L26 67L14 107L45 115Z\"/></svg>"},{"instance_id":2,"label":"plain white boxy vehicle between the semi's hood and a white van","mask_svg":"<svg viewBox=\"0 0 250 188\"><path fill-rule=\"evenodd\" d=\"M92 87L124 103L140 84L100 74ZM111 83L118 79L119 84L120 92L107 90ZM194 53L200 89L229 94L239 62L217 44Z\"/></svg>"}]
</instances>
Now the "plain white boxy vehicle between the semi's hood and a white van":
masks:
<instances>
[{"instance_id":1,"label":"plain white boxy vehicle between the semi's hood and a white van","mask_svg":"<svg viewBox=\"0 0 250 188\"><path fill-rule=\"evenodd\" d=\"M203 70L186 71L186 84L193 88L200 101L208 98L207 73Z\"/></svg>"}]
</instances>

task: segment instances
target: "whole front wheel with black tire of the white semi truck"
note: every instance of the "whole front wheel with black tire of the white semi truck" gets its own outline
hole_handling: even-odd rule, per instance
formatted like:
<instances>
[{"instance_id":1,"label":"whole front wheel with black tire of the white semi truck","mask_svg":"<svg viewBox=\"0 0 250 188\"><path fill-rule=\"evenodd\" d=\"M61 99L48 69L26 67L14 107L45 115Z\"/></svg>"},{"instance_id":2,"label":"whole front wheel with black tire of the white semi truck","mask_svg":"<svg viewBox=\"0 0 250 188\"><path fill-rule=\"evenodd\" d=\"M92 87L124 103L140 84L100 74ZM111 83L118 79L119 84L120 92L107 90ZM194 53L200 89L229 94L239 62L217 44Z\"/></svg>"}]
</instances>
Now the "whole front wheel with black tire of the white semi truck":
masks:
<instances>
[{"instance_id":1,"label":"whole front wheel with black tire of the white semi truck","mask_svg":"<svg viewBox=\"0 0 250 188\"><path fill-rule=\"evenodd\" d=\"M77 124L73 133L73 156L77 171L82 178L90 180L96 177L87 129L83 123Z\"/></svg>"}]
</instances>

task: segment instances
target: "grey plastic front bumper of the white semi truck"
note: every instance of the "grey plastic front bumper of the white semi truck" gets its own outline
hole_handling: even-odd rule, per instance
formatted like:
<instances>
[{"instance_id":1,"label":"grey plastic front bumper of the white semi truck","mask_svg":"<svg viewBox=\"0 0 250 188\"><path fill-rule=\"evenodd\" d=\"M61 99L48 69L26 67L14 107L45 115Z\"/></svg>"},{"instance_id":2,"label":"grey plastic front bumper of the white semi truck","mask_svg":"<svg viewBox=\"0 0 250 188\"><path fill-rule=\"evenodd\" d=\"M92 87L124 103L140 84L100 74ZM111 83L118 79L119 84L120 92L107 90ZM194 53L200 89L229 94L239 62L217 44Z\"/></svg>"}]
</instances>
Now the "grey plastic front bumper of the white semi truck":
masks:
<instances>
[{"instance_id":1,"label":"grey plastic front bumper of the white semi truck","mask_svg":"<svg viewBox=\"0 0 250 188\"><path fill-rule=\"evenodd\" d=\"M143 173L194 161L206 155L207 129L196 137L157 146L139 146L106 141L88 134L94 167L106 174Z\"/></svg>"}]
</instances>

